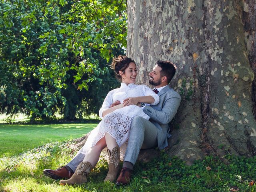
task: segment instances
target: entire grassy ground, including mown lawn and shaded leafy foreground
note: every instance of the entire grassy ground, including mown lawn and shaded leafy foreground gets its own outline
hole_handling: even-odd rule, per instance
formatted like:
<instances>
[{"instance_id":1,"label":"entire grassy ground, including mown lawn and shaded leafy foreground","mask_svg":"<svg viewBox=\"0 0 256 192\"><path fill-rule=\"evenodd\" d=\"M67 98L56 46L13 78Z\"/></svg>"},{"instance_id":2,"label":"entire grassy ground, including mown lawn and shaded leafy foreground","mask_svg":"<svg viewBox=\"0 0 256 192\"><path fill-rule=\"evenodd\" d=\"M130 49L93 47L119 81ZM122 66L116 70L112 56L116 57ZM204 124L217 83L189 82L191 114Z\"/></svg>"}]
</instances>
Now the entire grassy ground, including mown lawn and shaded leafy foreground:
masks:
<instances>
[{"instance_id":1,"label":"entire grassy ground, including mown lawn and shaded leafy foreground","mask_svg":"<svg viewBox=\"0 0 256 192\"><path fill-rule=\"evenodd\" d=\"M225 161L206 156L186 166L162 150L151 162L137 162L130 184L121 187L103 182L108 172L105 159L80 186L60 186L59 181L44 176L45 168L63 166L76 154L72 141L63 140L82 136L95 126L1 124L0 150L8 155L0 156L0 192L256 192L256 156L227 155ZM19 154L22 148L26 152Z\"/></svg>"}]
</instances>

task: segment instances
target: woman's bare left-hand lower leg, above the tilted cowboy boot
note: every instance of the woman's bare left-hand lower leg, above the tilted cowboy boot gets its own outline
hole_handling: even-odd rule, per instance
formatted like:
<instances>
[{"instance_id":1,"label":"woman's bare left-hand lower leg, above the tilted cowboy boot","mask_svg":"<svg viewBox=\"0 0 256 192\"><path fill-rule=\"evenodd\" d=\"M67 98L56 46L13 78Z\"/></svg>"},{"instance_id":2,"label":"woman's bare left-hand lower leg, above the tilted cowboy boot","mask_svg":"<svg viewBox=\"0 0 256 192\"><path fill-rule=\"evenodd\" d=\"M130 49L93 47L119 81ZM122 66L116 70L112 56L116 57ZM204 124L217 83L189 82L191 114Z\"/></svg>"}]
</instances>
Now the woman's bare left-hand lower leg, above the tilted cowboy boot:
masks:
<instances>
[{"instance_id":1,"label":"woman's bare left-hand lower leg, above the tilted cowboy boot","mask_svg":"<svg viewBox=\"0 0 256 192\"><path fill-rule=\"evenodd\" d=\"M105 137L101 138L92 148L90 148L89 152L84 157L83 162L90 162L92 167L96 166L101 151L106 147Z\"/></svg>"}]
</instances>

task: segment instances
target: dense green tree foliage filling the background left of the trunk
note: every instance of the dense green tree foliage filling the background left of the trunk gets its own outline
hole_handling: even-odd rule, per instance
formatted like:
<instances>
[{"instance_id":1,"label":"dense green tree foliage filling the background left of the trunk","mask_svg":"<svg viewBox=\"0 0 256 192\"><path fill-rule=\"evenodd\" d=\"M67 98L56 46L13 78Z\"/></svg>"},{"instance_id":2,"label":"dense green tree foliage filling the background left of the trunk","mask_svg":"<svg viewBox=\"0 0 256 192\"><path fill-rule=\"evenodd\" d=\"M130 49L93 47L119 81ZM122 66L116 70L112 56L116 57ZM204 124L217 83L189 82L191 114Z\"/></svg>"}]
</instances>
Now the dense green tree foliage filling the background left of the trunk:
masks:
<instances>
[{"instance_id":1,"label":"dense green tree foliage filling the background left of the trunk","mask_svg":"<svg viewBox=\"0 0 256 192\"><path fill-rule=\"evenodd\" d=\"M1 0L0 112L67 118L97 112L126 47L118 0Z\"/></svg>"}]
</instances>

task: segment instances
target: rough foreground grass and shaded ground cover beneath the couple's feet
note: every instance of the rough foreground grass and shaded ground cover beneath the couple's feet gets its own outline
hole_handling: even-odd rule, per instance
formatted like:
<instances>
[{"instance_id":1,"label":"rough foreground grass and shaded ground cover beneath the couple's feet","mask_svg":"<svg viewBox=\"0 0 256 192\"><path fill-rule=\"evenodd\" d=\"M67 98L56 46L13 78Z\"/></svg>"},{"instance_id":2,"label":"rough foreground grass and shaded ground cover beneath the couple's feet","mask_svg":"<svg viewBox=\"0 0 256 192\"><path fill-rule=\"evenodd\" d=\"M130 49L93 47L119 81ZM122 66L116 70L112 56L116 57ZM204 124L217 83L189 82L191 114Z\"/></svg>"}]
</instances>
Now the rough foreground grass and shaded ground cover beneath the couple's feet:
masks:
<instances>
[{"instance_id":1,"label":"rough foreground grass and shaded ground cover beneath the couple's feet","mask_svg":"<svg viewBox=\"0 0 256 192\"><path fill-rule=\"evenodd\" d=\"M165 151L152 162L137 163L129 185L118 187L104 183L107 161L101 159L88 177L88 182L75 186L60 186L42 173L56 169L76 154L70 142L54 142L22 155L0 158L1 192L229 192L232 187L241 192L255 192L248 184L256 175L256 158L227 156L228 163L210 156L186 166ZM78 150L78 149L77 149ZM210 167L210 169L206 169Z\"/></svg>"}]
</instances>

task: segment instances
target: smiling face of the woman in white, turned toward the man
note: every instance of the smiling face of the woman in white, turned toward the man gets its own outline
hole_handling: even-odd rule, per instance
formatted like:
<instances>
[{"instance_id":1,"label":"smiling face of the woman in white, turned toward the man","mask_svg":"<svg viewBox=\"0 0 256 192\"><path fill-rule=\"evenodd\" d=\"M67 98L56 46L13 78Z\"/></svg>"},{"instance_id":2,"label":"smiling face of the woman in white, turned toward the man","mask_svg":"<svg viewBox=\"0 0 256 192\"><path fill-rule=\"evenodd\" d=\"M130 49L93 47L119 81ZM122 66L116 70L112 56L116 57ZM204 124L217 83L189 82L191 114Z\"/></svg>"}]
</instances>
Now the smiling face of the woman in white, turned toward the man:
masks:
<instances>
[{"instance_id":1,"label":"smiling face of the woman in white, turned toward the man","mask_svg":"<svg viewBox=\"0 0 256 192\"><path fill-rule=\"evenodd\" d=\"M124 73L119 71L119 74L122 76L122 82L129 84L135 83L137 76L137 68L134 62L130 62L128 68L124 70Z\"/></svg>"}]
</instances>

